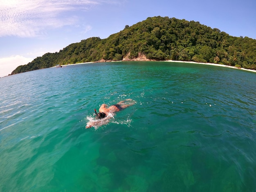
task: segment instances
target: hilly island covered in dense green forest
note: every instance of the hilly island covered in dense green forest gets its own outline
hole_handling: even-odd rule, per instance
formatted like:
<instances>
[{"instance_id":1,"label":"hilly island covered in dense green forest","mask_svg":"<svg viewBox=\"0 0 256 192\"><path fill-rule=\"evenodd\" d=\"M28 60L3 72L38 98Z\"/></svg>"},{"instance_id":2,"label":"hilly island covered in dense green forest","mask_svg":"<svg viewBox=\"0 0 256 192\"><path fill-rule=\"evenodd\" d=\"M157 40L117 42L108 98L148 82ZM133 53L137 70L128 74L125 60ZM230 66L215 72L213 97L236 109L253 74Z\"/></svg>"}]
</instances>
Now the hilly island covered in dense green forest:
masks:
<instances>
[{"instance_id":1,"label":"hilly island covered in dense green forest","mask_svg":"<svg viewBox=\"0 0 256 192\"><path fill-rule=\"evenodd\" d=\"M200 22L168 17L147 18L106 39L81 40L56 53L21 65L11 75L36 69L96 61L177 60L216 63L256 70L256 40L233 37Z\"/></svg>"}]
</instances>

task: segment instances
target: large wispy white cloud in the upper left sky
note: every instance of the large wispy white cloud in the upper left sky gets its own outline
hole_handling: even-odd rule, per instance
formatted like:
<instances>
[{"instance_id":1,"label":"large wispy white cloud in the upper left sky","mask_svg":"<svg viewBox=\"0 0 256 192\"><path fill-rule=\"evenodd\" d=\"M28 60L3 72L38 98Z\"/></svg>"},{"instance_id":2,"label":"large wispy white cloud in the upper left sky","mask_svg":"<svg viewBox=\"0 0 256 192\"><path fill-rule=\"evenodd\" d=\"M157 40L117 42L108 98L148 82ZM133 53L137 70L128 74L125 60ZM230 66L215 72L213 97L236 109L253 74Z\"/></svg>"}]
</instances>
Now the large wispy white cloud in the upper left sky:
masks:
<instances>
[{"instance_id":1,"label":"large wispy white cloud in the upper left sky","mask_svg":"<svg viewBox=\"0 0 256 192\"><path fill-rule=\"evenodd\" d=\"M0 37L35 37L47 28L75 25L68 11L86 11L97 0L0 0Z\"/></svg>"}]
</instances>

